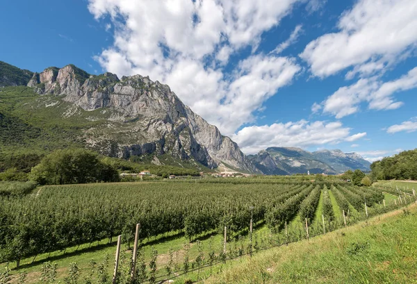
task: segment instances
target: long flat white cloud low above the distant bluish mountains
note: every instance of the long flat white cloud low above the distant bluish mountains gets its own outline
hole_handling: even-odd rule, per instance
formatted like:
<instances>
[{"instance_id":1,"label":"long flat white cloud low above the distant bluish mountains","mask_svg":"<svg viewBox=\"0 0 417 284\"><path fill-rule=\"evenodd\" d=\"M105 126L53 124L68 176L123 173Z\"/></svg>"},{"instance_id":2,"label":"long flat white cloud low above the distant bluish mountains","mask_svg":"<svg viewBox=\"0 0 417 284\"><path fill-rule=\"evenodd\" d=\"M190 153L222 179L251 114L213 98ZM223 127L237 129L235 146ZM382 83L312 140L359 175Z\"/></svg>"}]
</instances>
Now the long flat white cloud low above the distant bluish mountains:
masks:
<instances>
[{"instance_id":1,"label":"long flat white cloud low above the distant bluish mountains","mask_svg":"<svg viewBox=\"0 0 417 284\"><path fill-rule=\"evenodd\" d=\"M231 138L239 144L244 153L257 153L268 147L311 147L338 144L350 137L350 128L341 122L299 122L275 123L270 126L248 126ZM363 133L357 134L363 137Z\"/></svg>"}]
</instances>

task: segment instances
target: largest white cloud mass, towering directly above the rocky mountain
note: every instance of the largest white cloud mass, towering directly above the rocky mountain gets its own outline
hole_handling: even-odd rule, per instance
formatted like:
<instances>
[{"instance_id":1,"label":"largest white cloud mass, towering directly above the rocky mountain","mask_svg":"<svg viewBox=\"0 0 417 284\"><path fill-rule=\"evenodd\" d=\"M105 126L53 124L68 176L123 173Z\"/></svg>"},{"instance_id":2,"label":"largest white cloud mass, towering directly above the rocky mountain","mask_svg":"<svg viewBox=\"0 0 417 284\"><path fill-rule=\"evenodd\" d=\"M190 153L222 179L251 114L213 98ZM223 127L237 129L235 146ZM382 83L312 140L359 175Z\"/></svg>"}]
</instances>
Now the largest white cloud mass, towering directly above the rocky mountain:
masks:
<instances>
[{"instance_id":1,"label":"largest white cloud mass, towering directly above the rocky mountain","mask_svg":"<svg viewBox=\"0 0 417 284\"><path fill-rule=\"evenodd\" d=\"M262 33L297 1L89 0L96 19L111 16L115 37L96 60L109 72L167 83L222 133L234 133L254 122L252 113L291 83L300 67L292 58L256 53L231 74L223 66L240 49L256 51Z\"/></svg>"}]
</instances>

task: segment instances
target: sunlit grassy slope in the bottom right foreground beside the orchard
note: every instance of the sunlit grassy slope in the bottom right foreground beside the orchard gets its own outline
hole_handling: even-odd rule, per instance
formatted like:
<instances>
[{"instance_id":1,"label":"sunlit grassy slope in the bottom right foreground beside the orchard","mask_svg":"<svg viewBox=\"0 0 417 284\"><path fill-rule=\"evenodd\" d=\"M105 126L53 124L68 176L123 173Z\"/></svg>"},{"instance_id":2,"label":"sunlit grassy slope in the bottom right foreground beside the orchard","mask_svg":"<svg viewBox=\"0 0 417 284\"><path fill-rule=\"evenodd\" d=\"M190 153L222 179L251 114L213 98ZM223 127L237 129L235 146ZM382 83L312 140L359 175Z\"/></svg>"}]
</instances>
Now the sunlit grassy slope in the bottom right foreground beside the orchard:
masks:
<instances>
[{"instance_id":1,"label":"sunlit grassy slope in the bottom right foreground beside the orchard","mask_svg":"<svg viewBox=\"0 0 417 284\"><path fill-rule=\"evenodd\" d=\"M206 283L414 283L417 208L409 209L259 253Z\"/></svg>"}]
</instances>

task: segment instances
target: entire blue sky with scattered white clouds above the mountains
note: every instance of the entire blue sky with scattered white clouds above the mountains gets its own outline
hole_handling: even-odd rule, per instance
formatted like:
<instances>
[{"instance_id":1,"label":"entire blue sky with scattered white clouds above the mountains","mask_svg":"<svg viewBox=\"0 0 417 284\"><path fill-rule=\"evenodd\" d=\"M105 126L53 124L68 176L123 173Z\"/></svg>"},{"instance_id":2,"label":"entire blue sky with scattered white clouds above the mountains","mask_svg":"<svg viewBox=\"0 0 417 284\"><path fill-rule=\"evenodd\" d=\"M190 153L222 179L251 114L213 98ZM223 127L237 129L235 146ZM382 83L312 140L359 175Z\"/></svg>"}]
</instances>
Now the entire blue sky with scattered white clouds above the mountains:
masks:
<instances>
[{"instance_id":1,"label":"entire blue sky with scattered white clouds above the mountains","mask_svg":"<svg viewBox=\"0 0 417 284\"><path fill-rule=\"evenodd\" d=\"M245 153L416 147L415 0L16 0L0 24L0 60L149 75Z\"/></svg>"}]
</instances>

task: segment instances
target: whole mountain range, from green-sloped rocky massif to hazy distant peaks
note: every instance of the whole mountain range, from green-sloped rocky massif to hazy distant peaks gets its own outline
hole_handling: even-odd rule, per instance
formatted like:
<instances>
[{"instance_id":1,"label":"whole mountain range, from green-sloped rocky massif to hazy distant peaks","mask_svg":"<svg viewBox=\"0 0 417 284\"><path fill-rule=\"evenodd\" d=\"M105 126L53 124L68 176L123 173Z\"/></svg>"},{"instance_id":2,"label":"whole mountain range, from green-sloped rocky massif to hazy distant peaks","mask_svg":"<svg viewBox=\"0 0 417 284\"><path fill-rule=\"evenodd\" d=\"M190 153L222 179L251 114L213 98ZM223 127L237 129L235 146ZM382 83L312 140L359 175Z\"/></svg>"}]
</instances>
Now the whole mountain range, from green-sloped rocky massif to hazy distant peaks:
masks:
<instances>
[{"instance_id":1,"label":"whole mountain range, from green-sloped rocky massif to hazy distant peaks","mask_svg":"<svg viewBox=\"0 0 417 284\"><path fill-rule=\"evenodd\" d=\"M245 156L169 86L149 77L91 75L74 65L36 73L0 61L0 155L63 147L147 156L156 164L170 156L179 167L252 174L338 174L370 165L340 150L271 147Z\"/></svg>"}]
</instances>

